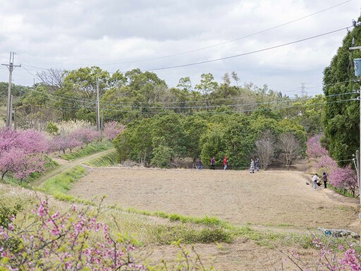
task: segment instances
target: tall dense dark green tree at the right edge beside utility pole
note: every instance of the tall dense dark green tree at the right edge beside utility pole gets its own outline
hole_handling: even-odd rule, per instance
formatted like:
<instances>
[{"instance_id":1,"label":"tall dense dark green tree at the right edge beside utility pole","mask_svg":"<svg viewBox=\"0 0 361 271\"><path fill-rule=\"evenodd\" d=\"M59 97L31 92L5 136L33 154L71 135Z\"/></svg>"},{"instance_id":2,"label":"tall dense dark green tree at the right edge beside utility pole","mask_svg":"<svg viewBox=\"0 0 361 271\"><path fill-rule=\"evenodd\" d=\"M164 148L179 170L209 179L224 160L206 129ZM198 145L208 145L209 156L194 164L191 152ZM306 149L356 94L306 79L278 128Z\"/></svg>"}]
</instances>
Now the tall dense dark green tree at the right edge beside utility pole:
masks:
<instances>
[{"instance_id":1,"label":"tall dense dark green tree at the right edge beside utility pole","mask_svg":"<svg viewBox=\"0 0 361 271\"><path fill-rule=\"evenodd\" d=\"M355 76L350 65L353 59L361 58L359 51L355 50L352 54L348 49L352 46L353 38L356 45L361 44L361 28L356 27L346 34L331 64L324 68L326 104L322 141L329 155L336 161L350 159L360 145L359 102L350 100L359 96L350 92L354 92L360 86L360 83L353 81ZM349 163L349 161L338 162L341 166Z\"/></svg>"}]
</instances>

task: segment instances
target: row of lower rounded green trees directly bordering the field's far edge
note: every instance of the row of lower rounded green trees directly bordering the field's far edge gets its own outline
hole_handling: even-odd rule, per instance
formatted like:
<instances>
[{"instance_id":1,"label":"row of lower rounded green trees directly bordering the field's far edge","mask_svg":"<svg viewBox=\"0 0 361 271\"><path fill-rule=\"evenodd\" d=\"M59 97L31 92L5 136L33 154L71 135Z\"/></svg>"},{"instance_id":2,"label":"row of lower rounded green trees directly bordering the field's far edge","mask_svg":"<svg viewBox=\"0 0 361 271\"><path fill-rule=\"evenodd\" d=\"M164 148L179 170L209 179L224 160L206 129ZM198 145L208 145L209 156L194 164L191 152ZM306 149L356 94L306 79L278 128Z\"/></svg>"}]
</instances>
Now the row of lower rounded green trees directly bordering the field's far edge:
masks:
<instances>
[{"instance_id":1,"label":"row of lower rounded green trees directly bordering the field's far edge","mask_svg":"<svg viewBox=\"0 0 361 271\"><path fill-rule=\"evenodd\" d=\"M114 140L114 145L121 161L132 159L169 167L177 157L192 157L193 162L215 157L221 164L221 159L227 156L233 169L245 169L250 158L257 156L256 141L266 131L274 133L274 145L279 145L270 159L281 159L290 165L305 155L307 137L302 126L288 120L252 118L238 113L217 114L217 119L167 114L133 121Z\"/></svg>"}]
</instances>

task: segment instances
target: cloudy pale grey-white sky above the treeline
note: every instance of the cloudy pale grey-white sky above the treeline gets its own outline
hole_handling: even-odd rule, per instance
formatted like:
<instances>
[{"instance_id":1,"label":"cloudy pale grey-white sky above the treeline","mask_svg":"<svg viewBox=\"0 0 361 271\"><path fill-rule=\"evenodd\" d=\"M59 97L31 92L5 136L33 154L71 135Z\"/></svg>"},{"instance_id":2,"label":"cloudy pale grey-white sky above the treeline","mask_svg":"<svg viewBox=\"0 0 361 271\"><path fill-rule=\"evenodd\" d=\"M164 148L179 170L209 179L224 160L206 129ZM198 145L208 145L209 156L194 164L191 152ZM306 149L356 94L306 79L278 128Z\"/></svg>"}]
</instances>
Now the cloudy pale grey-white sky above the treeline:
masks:
<instances>
[{"instance_id":1,"label":"cloudy pale grey-white sky above the treeline","mask_svg":"<svg viewBox=\"0 0 361 271\"><path fill-rule=\"evenodd\" d=\"M169 87L184 77L194 87L202 73L222 83L234 71L240 85L293 97L304 83L314 96L360 8L360 0L0 0L0 64L16 53L17 85L38 83L49 68L99 66L152 71Z\"/></svg>"}]
</instances>

